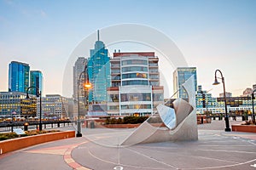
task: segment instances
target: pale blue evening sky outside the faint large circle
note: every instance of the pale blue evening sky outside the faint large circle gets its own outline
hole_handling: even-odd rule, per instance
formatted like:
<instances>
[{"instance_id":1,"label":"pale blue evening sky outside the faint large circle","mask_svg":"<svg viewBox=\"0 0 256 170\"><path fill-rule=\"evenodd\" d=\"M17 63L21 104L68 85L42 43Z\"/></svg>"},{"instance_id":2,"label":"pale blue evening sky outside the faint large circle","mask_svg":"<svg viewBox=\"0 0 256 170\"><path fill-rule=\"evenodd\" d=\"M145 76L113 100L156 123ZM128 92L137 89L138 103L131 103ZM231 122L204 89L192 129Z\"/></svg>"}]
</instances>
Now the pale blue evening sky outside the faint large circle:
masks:
<instances>
[{"instance_id":1,"label":"pale blue evening sky outside the faint large circle","mask_svg":"<svg viewBox=\"0 0 256 170\"><path fill-rule=\"evenodd\" d=\"M79 42L96 30L132 23L169 37L213 96L223 92L212 86L216 69L226 91L239 96L256 84L255 8L253 0L0 0L0 91L8 90L9 63L16 60L43 72L44 95L62 94L65 67ZM167 88L172 91L172 83Z\"/></svg>"}]
</instances>

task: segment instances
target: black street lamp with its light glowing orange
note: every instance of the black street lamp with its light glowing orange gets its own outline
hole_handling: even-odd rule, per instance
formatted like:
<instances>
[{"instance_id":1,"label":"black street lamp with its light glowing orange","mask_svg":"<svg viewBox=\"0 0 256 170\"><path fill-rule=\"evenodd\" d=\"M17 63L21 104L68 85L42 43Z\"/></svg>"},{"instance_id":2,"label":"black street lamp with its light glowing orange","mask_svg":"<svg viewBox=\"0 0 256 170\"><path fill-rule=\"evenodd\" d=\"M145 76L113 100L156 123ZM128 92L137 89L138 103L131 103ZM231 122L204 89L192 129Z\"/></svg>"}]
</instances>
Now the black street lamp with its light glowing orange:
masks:
<instances>
[{"instance_id":1,"label":"black street lamp with its light glowing orange","mask_svg":"<svg viewBox=\"0 0 256 170\"><path fill-rule=\"evenodd\" d=\"M79 75L79 79L78 79L78 92L77 92L77 95L78 95L78 132L76 134L76 137L82 137L82 133L81 133L81 122L80 122L80 108L79 108L79 85L80 85L80 82L81 82L81 77L82 75L84 74L85 77L85 83L84 83L84 88L85 90L86 89L90 89L91 88L91 84L89 82L89 77L88 77L88 72L86 71L87 70L87 65L85 65L85 68L84 68L84 71L82 71Z\"/></svg>"}]
</instances>

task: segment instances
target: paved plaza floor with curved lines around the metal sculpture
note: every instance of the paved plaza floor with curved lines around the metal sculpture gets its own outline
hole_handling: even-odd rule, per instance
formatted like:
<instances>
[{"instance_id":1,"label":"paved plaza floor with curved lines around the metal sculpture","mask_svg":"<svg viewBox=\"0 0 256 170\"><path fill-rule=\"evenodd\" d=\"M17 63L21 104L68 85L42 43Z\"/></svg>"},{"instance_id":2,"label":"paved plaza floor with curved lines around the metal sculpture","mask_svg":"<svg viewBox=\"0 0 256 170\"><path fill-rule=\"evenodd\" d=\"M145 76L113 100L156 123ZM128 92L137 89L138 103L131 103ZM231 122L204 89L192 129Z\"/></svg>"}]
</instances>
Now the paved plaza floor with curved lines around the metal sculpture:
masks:
<instances>
[{"instance_id":1,"label":"paved plaza floor with curved lines around the metal sculpture","mask_svg":"<svg viewBox=\"0 0 256 170\"><path fill-rule=\"evenodd\" d=\"M134 129L83 128L82 138L38 144L2 155L0 168L256 170L255 133L224 132L224 121L198 125L198 129L197 141L120 146Z\"/></svg>"}]
</instances>

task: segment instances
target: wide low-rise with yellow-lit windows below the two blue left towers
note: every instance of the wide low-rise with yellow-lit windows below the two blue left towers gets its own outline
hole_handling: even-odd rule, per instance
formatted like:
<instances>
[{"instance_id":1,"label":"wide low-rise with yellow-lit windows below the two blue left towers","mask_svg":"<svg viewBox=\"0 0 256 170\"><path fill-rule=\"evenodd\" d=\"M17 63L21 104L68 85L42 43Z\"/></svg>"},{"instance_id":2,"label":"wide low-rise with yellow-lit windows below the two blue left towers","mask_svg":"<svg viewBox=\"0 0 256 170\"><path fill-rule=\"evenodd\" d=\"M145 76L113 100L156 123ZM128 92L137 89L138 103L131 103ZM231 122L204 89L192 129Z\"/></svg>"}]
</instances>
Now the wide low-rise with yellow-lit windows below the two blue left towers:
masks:
<instances>
[{"instance_id":1,"label":"wide low-rise with yellow-lit windows below the two blue left towers","mask_svg":"<svg viewBox=\"0 0 256 170\"><path fill-rule=\"evenodd\" d=\"M37 98L30 95L26 99L26 94L21 92L0 92L0 116L30 117L37 116Z\"/></svg>"}]
</instances>

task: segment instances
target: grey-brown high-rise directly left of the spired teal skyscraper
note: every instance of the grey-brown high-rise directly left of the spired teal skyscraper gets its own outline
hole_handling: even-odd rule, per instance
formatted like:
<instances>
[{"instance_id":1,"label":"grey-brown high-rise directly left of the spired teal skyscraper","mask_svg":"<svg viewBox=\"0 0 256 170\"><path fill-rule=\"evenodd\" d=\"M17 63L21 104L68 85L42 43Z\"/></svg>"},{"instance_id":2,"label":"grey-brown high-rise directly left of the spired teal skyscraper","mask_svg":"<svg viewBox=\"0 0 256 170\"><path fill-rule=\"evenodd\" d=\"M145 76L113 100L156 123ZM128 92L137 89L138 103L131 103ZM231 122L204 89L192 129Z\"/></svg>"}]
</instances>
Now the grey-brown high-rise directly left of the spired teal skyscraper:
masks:
<instances>
[{"instance_id":1,"label":"grey-brown high-rise directly left of the spired teal skyscraper","mask_svg":"<svg viewBox=\"0 0 256 170\"><path fill-rule=\"evenodd\" d=\"M78 101L78 89L79 89L79 111L80 115L85 115L85 105L84 105L84 73L82 73L87 65L87 59L84 57L79 57L75 65L73 66L73 99L74 99L74 113L78 113L77 101ZM86 71L85 71L86 72ZM82 73L82 74L81 74ZM81 76L81 77L80 77ZM78 84L78 82L80 84ZM74 114L73 116L78 116Z\"/></svg>"}]
</instances>

